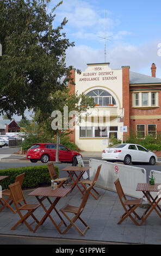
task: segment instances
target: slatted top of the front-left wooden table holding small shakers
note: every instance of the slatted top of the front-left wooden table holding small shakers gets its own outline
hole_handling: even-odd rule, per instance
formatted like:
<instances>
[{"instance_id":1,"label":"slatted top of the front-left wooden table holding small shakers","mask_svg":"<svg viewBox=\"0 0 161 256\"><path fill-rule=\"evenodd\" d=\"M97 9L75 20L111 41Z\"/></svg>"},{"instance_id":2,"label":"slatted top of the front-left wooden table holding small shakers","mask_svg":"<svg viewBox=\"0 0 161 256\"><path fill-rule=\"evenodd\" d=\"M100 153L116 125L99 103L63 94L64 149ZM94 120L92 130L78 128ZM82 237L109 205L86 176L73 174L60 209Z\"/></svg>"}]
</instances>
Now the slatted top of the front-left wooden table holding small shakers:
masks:
<instances>
[{"instance_id":1,"label":"slatted top of the front-left wooden table holding small shakers","mask_svg":"<svg viewBox=\"0 0 161 256\"><path fill-rule=\"evenodd\" d=\"M71 188L59 187L56 190L52 190L51 187L38 187L29 193L28 196L65 197L70 191Z\"/></svg>"}]
</instances>

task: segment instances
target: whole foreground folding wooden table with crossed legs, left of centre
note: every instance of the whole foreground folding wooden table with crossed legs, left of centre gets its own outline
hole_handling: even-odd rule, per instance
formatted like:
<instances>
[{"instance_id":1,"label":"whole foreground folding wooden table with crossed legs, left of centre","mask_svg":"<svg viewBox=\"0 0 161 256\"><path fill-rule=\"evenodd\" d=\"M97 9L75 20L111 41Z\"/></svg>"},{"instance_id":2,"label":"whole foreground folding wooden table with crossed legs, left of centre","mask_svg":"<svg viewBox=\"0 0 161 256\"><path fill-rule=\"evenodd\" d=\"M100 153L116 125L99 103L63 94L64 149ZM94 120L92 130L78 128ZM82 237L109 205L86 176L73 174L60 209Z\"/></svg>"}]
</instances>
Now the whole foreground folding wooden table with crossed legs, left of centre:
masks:
<instances>
[{"instance_id":1,"label":"whole foreground folding wooden table with crossed legs, left of centre","mask_svg":"<svg viewBox=\"0 0 161 256\"><path fill-rule=\"evenodd\" d=\"M55 205L59 202L61 197L67 196L67 194L70 192L70 190L71 190L70 188L63 188L63 187L57 188L57 190L51 190L51 187L39 187L39 188L36 188L36 190L34 190L28 194L28 196L35 196L38 199L39 203L41 204L42 208L46 212L46 214L42 217L42 219L38 223L38 225L36 225L34 232L39 228L40 225L42 225L45 222L46 218L49 217L51 219L52 223L54 224L54 226L57 228L57 230L61 234L60 226L63 223L66 226L66 223L63 220L63 218L61 217L61 215L59 214L59 212L57 211L57 209L55 208ZM49 197L56 197L56 198L52 202L51 199L49 199ZM48 202L51 204L51 206L49 207L48 210L45 208L44 204L42 204L42 201L44 201L45 199L47 199ZM61 220L61 222L58 225L55 223L55 221L53 220L53 218L50 215L50 213L53 209L55 210L55 212L57 213L57 215L59 216L59 218Z\"/></svg>"}]
</instances>

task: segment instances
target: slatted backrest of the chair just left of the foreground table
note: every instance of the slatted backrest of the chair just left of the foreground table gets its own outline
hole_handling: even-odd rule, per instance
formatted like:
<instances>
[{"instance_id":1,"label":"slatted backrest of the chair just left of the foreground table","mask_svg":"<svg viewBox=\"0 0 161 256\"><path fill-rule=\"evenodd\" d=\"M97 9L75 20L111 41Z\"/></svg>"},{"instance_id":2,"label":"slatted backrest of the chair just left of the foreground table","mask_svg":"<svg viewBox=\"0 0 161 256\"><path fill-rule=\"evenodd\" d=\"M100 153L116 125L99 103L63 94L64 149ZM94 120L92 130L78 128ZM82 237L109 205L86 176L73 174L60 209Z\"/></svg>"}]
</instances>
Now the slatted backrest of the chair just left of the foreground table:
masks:
<instances>
[{"instance_id":1,"label":"slatted backrest of the chair just left of the foreground table","mask_svg":"<svg viewBox=\"0 0 161 256\"><path fill-rule=\"evenodd\" d=\"M20 202L24 202L26 204L26 200L24 199L21 186L19 182L15 182L14 184L9 185L11 196L13 197L14 204L17 207L17 204Z\"/></svg>"}]
</instances>

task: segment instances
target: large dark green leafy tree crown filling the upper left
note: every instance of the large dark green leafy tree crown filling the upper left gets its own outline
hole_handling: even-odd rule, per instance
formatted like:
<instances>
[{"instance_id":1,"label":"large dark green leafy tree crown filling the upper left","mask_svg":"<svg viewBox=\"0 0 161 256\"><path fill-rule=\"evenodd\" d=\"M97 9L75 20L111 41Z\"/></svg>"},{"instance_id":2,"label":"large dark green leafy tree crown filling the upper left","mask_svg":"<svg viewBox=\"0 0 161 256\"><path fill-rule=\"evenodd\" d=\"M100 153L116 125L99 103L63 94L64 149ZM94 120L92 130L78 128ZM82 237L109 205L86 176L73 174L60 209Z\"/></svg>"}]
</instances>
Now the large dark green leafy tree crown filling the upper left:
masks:
<instances>
[{"instance_id":1,"label":"large dark green leafy tree crown filling the upper left","mask_svg":"<svg viewBox=\"0 0 161 256\"><path fill-rule=\"evenodd\" d=\"M72 67L66 67L65 51L74 46L53 28L55 8L47 13L49 0L1 0L0 2L0 114L22 115L28 108L49 111L49 93L64 88Z\"/></svg>"}]
</instances>

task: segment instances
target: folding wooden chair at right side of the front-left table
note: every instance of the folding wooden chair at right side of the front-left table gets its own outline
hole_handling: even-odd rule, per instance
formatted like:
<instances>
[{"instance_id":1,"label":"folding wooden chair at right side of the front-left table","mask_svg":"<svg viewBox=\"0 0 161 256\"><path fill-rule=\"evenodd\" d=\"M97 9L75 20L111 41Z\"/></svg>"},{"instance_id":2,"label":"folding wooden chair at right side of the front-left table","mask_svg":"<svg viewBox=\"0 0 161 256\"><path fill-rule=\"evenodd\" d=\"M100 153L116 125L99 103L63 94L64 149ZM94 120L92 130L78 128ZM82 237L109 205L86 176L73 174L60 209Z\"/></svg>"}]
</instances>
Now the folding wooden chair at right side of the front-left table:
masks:
<instances>
[{"instance_id":1,"label":"folding wooden chair at right side of the front-left table","mask_svg":"<svg viewBox=\"0 0 161 256\"><path fill-rule=\"evenodd\" d=\"M76 207L76 206L72 206L72 205L65 205L64 208L61 208L60 211L62 212L62 214L67 218L67 220L70 222L70 224L67 226L67 228L63 231L63 234L66 233L67 230L69 230L72 225L73 227L76 228L76 230L79 232L80 235L84 236L86 230L89 228L88 224L85 223L85 221L82 220L82 218L80 218L80 214L82 214L84 208L85 208L85 205L86 205L86 202L88 200L88 197L89 197L89 194L90 194L90 191L91 191L91 188L92 188L93 185L89 186L84 195L83 195L83 199L82 199L82 203L80 204L79 207ZM72 213L72 214L75 214L75 216L73 218L70 218L66 212L69 212L69 213ZM75 224L75 222L77 220L80 220L84 225L85 225L85 229L83 231L81 231L77 225Z\"/></svg>"}]
</instances>

